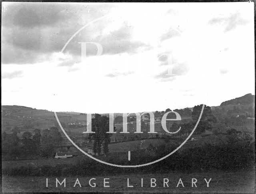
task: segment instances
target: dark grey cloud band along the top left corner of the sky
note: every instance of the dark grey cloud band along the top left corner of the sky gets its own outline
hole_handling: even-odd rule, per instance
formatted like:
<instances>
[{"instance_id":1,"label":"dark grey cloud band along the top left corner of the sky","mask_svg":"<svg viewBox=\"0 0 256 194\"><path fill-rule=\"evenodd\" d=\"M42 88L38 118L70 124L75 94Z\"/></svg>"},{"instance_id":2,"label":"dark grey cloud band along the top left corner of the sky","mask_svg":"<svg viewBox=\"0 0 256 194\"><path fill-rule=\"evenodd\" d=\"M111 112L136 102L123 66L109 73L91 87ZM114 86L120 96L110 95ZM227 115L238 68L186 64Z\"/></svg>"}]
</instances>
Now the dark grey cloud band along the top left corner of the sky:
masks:
<instances>
[{"instance_id":1,"label":"dark grey cloud band along the top left corner of the sky","mask_svg":"<svg viewBox=\"0 0 256 194\"><path fill-rule=\"evenodd\" d=\"M62 22L69 26L74 19L91 21L108 12L110 4L64 4L42 2L4 2L2 10L2 25L34 28L35 26L55 26ZM80 17L81 13L86 18ZM74 24L74 23L73 23Z\"/></svg>"}]
</instances>

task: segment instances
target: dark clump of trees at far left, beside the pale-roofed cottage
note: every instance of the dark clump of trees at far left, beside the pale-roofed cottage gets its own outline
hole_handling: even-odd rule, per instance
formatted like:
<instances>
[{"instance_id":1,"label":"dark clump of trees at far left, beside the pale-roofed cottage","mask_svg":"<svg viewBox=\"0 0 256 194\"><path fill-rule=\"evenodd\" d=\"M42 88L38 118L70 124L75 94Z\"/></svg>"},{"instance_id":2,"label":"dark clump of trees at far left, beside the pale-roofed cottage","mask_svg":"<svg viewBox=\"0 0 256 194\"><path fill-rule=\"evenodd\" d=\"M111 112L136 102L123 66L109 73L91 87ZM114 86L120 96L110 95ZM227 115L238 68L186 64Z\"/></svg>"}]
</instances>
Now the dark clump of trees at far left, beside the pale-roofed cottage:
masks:
<instances>
[{"instance_id":1,"label":"dark clump of trees at far left, beside the pale-roofed cottage","mask_svg":"<svg viewBox=\"0 0 256 194\"><path fill-rule=\"evenodd\" d=\"M34 134L24 132L22 138L18 138L20 129L14 127L12 133L2 133L2 156L6 159L26 159L32 156L51 157L62 141L58 128L51 127L41 130L35 129Z\"/></svg>"}]
</instances>

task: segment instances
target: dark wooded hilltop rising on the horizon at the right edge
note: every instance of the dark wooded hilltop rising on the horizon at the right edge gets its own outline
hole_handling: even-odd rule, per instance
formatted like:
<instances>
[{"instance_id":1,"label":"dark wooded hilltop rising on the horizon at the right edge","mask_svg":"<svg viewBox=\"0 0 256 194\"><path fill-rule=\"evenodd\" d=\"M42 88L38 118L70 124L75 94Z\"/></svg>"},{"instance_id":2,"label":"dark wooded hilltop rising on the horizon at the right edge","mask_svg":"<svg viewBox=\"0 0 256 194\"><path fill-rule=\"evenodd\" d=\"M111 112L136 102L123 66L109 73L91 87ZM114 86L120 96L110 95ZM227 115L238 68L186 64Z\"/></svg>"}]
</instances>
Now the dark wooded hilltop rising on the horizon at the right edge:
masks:
<instances>
[{"instance_id":1,"label":"dark wooded hilltop rising on the horizon at the right edge","mask_svg":"<svg viewBox=\"0 0 256 194\"><path fill-rule=\"evenodd\" d=\"M244 96L227 100L225 102L222 102L220 106L226 106L226 105L247 105L247 104L255 104L255 96L252 94L246 94Z\"/></svg>"}]
</instances>

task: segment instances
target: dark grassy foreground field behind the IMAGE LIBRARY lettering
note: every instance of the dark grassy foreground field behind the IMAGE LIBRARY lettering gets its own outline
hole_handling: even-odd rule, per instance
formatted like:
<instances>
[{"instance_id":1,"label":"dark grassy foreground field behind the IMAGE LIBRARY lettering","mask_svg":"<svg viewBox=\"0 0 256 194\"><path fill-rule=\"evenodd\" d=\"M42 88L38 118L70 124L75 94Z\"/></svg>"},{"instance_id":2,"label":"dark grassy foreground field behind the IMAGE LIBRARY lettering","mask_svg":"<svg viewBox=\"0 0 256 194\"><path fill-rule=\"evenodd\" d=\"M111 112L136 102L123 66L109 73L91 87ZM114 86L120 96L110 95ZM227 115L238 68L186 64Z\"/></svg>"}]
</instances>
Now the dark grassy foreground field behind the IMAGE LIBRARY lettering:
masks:
<instances>
[{"instance_id":1,"label":"dark grassy foreground field behind the IMAGE LIBRARY lettering","mask_svg":"<svg viewBox=\"0 0 256 194\"><path fill-rule=\"evenodd\" d=\"M46 178L48 178L48 188L46 188ZM56 178L60 182L66 178L66 188L58 186L56 188ZM74 187L76 179L79 179L81 188L78 184ZM96 178L92 181L96 187L89 186L90 178ZM109 178L110 187L104 188L103 179ZM127 187L127 178L130 185ZM143 187L141 187L141 178L143 178ZM156 179L156 187L150 187L150 178ZM163 187L163 179L168 178L168 186ZM179 179L182 179L184 188L180 184L177 188ZM191 187L191 179L197 179L197 187ZM209 187L206 187L206 178L210 181ZM254 193L254 171L237 172L196 172L181 173L173 172L168 174L124 174L118 176L91 176L91 177L33 177L33 176L2 176L2 192L214 192L214 193Z\"/></svg>"}]
</instances>

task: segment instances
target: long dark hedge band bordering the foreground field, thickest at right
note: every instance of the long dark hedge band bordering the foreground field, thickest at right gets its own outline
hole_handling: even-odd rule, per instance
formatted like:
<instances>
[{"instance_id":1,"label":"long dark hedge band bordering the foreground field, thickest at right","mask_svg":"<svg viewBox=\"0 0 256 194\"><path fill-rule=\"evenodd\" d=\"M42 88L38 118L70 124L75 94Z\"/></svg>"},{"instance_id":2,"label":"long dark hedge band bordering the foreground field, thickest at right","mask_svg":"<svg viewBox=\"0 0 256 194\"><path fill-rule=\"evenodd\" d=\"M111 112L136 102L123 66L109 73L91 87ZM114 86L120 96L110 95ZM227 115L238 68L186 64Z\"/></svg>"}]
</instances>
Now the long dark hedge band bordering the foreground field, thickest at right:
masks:
<instances>
[{"instance_id":1,"label":"long dark hedge band bordering the foreground field, thickest at right","mask_svg":"<svg viewBox=\"0 0 256 194\"><path fill-rule=\"evenodd\" d=\"M145 167L118 168L106 166L94 160L80 160L75 164L56 164L55 166L20 166L18 168L4 168L3 174L22 176L97 176L114 175L134 172L172 172L173 170L195 172L201 170L238 170L254 168L254 138L244 134L239 138L236 130L230 130L227 135L228 141L212 146L205 144L202 147L187 148L175 152L170 157ZM110 154L104 161L122 164L136 165L145 164L159 159L176 148L176 144L166 147L161 145L157 148L148 146L146 150L132 152L132 160L128 163L127 153Z\"/></svg>"}]
</instances>

